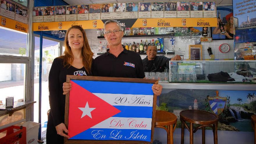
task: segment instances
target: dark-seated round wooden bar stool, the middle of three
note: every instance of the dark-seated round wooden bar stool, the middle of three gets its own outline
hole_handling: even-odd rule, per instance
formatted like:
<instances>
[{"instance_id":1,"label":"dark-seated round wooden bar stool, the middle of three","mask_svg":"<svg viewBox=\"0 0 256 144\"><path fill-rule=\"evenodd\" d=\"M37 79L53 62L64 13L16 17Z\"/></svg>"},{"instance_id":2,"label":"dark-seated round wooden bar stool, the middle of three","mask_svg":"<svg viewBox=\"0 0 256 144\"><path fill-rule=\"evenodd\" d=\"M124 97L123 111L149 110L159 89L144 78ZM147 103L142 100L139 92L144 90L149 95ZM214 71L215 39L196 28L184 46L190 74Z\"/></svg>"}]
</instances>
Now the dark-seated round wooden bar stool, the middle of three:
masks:
<instances>
[{"instance_id":1,"label":"dark-seated round wooden bar stool, the middle of three","mask_svg":"<svg viewBox=\"0 0 256 144\"><path fill-rule=\"evenodd\" d=\"M184 126L190 132L190 144L193 144L193 133L202 128L202 144L205 144L205 127L211 127L213 129L214 144L218 144L218 116L206 111L199 110L185 110L179 113L181 125L181 144L184 144ZM190 123L190 127L186 124ZM199 127L193 129L193 124L200 124Z\"/></svg>"}]
</instances>

